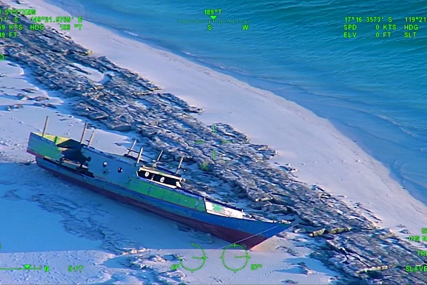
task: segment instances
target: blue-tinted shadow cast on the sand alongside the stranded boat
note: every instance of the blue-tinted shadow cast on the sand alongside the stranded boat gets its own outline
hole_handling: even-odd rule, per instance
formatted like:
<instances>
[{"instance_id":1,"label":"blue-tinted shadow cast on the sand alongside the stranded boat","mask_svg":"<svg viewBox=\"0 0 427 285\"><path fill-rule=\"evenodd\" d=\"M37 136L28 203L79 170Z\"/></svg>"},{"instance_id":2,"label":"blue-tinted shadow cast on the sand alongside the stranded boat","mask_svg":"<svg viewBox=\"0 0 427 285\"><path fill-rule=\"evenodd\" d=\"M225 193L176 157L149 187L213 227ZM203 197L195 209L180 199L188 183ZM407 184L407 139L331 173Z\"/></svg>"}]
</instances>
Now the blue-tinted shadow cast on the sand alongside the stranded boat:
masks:
<instances>
[{"instance_id":1,"label":"blue-tinted shadow cast on the sand alongside the stranded boat","mask_svg":"<svg viewBox=\"0 0 427 285\"><path fill-rule=\"evenodd\" d=\"M194 249L192 242L205 250L228 245L209 234L61 180L33 162L0 163L0 172L13 173L0 177L0 201L2 205L8 205L7 220L0 219L0 224L15 225L5 231L10 234L10 240L18 234L32 236L34 246L27 244L27 251L40 251L41 248L44 251L103 249L125 254L140 249ZM18 173L24 175L18 176ZM57 215L60 215L59 219ZM24 223L19 220L21 216L31 217L27 222L32 224L31 227L16 226L16 223ZM34 225L37 223L50 225L37 227ZM43 227L42 236L31 232L31 228ZM57 231L96 241L100 243L99 248L84 248L81 242L50 244L48 240L58 235ZM2 252L5 252L3 248Z\"/></svg>"}]
</instances>

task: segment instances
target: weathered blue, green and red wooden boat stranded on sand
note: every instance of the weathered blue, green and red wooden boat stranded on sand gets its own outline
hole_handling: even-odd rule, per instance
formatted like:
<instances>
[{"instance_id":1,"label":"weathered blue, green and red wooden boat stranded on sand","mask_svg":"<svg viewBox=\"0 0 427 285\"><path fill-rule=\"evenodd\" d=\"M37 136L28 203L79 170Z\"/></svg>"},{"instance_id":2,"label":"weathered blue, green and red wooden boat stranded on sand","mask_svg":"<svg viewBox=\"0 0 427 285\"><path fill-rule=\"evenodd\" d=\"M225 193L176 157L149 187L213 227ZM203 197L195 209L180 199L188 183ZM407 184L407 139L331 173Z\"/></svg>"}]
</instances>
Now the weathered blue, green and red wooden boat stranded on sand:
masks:
<instances>
[{"instance_id":1,"label":"weathered blue, green and red wooden boat stranded on sand","mask_svg":"<svg viewBox=\"0 0 427 285\"><path fill-rule=\"evenodd\" d=\"M154 163L142 160L143 149L133 150L136 141L124 155L107 153L91 146L94 133L83 142L86 125L76 141L47 134L47 123L48 118L43 133L30 133L27 152L62 178L248 249L291 225L258 221L242 209L186 190L178 174L182 159L177 171L170 171L158 166L162 152Z\"/></svg>"}]
</instances>

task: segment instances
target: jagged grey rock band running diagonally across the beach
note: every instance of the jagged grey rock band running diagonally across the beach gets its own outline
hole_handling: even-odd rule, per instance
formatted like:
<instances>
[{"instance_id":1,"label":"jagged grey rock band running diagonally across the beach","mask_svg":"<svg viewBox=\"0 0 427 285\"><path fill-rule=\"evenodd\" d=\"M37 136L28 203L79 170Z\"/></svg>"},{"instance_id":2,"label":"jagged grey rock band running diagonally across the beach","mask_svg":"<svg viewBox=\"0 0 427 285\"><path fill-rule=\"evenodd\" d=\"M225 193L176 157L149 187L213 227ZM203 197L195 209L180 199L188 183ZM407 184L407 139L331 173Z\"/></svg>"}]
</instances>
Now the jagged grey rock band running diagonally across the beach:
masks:
<instances>
[{"instance_id":1,"label":"jagged grey rock band running diagonally across the beach","mask_svg":"<svg viewBox=\"0 0 427 285\"><path fill-rule=\"evenodd\" d=\"M7 8L0 4L0 8ZM23 19L23 22L30 22ZM215 132L201 124L192 113L202 110L188 106L172 94L138 74L123 69L106 57L91 57L87 50L52 29L19 31L18 38L1 38L0 53L31 68L36 79L66 97L75 97L74 112L104 123L117 131L134 130L149 139L156 149L178 160L185 155L187 176L209 175L217 184L201 185L188 179L186 187L220 196L224 201L242 202L254 208L254 217L263 219L298 216L296 231L307 232L323 241L313 257L343 273L346 284L426 284L420 272L406 273L402 267L426 263L411 245L388 229L379 229L342 201L319 187L295 181L285 171L271 166L275 152L255 145L229 125L216 124ZM104 74L95 82L70 66L79 63ZM204 143L195 143L203 140ZM227 141L227 142L225 142ZM216 159L212 159L215 151ZM198 164L199 168L192 165ZM216 179L214 179L216 177Z\"/></svg>"}]
</instances>

